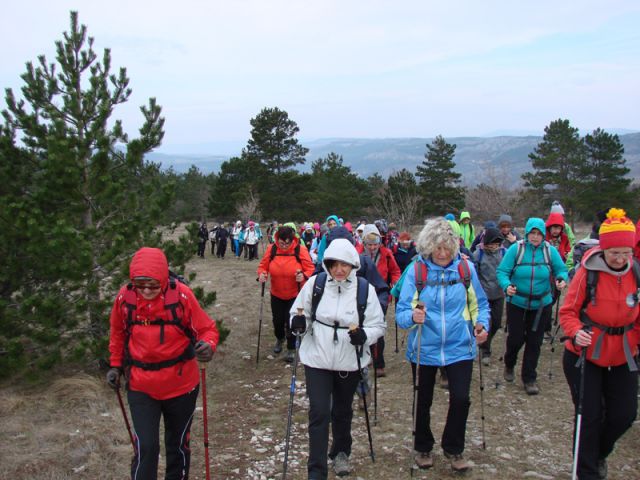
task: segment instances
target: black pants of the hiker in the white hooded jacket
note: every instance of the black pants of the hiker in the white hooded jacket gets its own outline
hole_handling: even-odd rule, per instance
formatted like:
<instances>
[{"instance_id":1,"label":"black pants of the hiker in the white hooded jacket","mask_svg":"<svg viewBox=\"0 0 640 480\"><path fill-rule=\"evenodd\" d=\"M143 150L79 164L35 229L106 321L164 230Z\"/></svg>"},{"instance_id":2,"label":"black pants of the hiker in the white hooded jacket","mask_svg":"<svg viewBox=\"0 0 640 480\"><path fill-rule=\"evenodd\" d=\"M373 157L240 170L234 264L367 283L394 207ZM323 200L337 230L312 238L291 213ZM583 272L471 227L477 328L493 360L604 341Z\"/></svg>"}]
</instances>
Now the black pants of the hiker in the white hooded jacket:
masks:
<instances>
[{"instance_id":1,"label":"black pants of the hiker in the white hooded jacket","mask_svg":"<svg viewBox=\"0 0 640 480\"><path fill-rule=\"evenodd\" d=\"M355 349L354 349L355 355ZM327 451L333 459L340 452L351 455L353 394L360 374L304 367L309 397L309 478L326 480ZM333 443L329 450L329 422Z\"/></svg>"}]
</instances>

